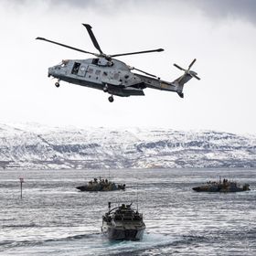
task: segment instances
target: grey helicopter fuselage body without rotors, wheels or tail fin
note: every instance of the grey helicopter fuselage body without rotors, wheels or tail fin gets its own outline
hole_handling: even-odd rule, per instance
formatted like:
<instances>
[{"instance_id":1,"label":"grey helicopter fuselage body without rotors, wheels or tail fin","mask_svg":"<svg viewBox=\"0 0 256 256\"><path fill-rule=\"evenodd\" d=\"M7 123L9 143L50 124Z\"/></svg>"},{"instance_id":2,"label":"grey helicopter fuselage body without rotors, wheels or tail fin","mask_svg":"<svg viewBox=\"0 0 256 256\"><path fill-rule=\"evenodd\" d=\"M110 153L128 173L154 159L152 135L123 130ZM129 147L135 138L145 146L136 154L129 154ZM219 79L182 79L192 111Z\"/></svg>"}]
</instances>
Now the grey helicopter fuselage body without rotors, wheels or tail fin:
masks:
<instances>
[{"instance_id":1,"label":"grey helicopter fuselage body without rotors, wheels or tail fin","mask_svg":"<svg viewBox=\"0 0 256 256\"><path fill-rule=\"evenodd\" d=\"M124 62L117 59L63 60L60 65L48 69L48 76L122 97L144 95L146 87L178 92L176 82L133 73Z\"/></svg>"}]
</instances>

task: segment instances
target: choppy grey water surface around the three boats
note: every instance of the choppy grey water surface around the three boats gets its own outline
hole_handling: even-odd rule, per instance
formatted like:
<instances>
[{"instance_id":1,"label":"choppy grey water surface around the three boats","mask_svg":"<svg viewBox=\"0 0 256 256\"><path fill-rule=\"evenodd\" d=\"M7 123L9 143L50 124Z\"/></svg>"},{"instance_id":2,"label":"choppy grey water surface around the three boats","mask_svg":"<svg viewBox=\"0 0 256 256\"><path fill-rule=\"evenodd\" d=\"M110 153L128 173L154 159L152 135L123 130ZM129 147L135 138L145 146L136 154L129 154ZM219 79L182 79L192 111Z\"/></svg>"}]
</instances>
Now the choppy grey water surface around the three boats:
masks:
<instances>
[{"instance_id":1,"label":"choppy grey water surface around the three boats","mask_svg":"<svg viewBox=\"0 0 256 256\"><path fill-rule=\"evenodd\" d=\"M256 170L112 170L126 191L79 192L76 186L105 170L1 171L0 255L256 255ZM18 178L23 176L23 199ZM251 191L197 193L219 176ZM108 201L139 197L142 241L101 235Z\"/></svg>"}]
</instances>

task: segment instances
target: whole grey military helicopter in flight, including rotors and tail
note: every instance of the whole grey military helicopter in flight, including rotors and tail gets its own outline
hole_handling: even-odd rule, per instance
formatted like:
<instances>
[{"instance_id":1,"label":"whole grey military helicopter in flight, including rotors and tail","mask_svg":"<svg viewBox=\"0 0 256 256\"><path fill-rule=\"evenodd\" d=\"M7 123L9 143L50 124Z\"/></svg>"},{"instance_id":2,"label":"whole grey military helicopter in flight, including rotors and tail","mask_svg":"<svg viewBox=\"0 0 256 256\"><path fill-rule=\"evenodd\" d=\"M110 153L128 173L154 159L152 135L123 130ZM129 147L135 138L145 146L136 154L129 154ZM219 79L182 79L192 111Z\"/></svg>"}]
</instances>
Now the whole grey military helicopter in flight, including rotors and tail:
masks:
<instances>
[{"instance_id":1,"label":"whole grey military helicopter in flight, including rotors and tail","mask_svg":"<svg viewBox=\"0 0 256 256\"><path fill-rule=\"evenodd\" d=\"M187 69L183 69L177 64L174 64L177 69L184 71L184 74L172 82L161 80L159 77L145 72L142 69L130 67L123 61L113 58L127 55L161 52L164 51L164 49L157 48L107 55L101 50L101 47L92 32L91 25L82 25L87 29L93 46L99 51L99 53L93 53L80 48L73 48L56 41L48 40L44 37L36 38L37 40L47 41L64 48L70 48L82 53L91 54L95 57L93 59L64 59L61 61L61 63L59 63L59 65L48 68L48 77L57 79L57 82L55 83L56 87L59 87L59 81L63 80L72 84L98 89L111 94L108 100L112 102L113 95L121 97L135 95L143 96L145 88L174 91L181 98L183 98L184 84L192 78L200 80L200 78L197 77L197 72L190 70L196 59L189 64ZM132 70L140 73L132 72Z\"/></svg>"}]
</instances>

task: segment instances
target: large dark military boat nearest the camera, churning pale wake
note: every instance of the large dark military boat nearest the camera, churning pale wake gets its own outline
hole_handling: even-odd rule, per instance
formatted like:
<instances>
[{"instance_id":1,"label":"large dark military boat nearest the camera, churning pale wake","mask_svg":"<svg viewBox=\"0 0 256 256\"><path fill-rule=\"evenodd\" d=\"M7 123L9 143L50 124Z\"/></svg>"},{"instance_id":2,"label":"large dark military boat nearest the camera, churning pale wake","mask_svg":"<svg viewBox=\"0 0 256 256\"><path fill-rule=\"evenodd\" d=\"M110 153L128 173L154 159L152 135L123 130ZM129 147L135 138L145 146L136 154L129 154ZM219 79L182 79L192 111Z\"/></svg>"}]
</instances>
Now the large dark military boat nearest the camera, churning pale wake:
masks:
<instances>
[{"instance_id":1,"label":"large dark military boat nearest the camera, churning pale wake","mask_svg":"<svg viewBox=\"0 0 256 256\"><path fill-rule=\"evenodd\" d=\"M109 240L142 240L144 236L143 214L132 208L132 204L122 204L111 208L102 216L101 232Z\"/></svg>"}]
</instances>

